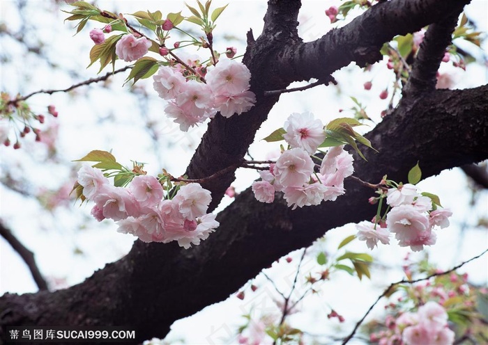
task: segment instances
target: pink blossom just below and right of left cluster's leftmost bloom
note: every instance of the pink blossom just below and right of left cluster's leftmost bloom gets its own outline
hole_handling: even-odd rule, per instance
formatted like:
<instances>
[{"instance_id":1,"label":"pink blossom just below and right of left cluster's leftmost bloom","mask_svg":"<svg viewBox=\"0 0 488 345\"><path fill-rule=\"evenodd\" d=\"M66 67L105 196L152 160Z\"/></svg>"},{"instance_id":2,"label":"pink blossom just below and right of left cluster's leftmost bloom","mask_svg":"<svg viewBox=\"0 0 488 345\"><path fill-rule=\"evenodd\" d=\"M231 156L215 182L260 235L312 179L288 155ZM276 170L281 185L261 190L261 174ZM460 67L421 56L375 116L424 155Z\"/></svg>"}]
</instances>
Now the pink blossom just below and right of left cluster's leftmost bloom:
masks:
<instances>
[{"instance_id":1,"label":"pink blossom just below and right of left cluster's leftmost bloom","mask_svg":"<svg viewBox=\"0 0 488 345\"><path fill-rule=\"evenodd\" d=\"M105 184L94 196L96 202L105 218L113 220L125 219L128 216L139 215L139 204L127 189Z\"/></svg>"}]
</instances>

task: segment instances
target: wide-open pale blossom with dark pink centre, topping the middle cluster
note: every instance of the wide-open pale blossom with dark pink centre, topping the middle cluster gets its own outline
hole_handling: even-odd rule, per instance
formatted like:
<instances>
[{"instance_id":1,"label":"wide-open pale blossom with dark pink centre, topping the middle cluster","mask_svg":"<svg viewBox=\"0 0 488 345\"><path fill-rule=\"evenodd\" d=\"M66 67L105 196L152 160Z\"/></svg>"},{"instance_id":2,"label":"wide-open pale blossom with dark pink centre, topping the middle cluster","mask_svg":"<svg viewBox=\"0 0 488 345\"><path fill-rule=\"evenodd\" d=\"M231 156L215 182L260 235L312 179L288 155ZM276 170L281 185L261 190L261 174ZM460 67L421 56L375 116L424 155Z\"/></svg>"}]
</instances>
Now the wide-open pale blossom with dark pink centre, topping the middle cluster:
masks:
<instances>
[{"instance_id":1,"label":"wide-open pale blossom with dark pink centre, topping the middle cluster","mask_svg":"<svg viewBox=\"0 0 488 345\"><path fill-rule=\"evenodd\" d=\"M314 154L326 138L323 123L309 112L292 113L284 122L284 130L287 131L283 134L284 140L291 147L300 147L308 154Z\"/></svg>"}]
</instances>

